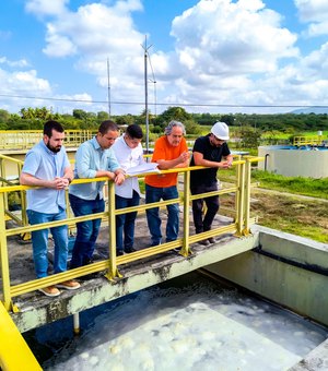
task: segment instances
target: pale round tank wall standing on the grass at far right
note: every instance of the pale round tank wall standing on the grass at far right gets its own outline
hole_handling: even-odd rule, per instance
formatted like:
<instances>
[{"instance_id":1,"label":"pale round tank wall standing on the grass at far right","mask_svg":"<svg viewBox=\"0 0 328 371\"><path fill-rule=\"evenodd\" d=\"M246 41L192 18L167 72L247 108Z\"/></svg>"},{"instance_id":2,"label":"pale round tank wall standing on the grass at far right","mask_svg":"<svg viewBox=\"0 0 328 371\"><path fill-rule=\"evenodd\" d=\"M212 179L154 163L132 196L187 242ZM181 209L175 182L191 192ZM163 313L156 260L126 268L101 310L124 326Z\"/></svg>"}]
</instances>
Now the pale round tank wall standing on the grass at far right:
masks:
<instances>
[{"instance_id":1,"label":"pale round tank wall standing on the grass at far right","mask_svg":"<svg viewBox=\"0 0 328 371\"><path fill-rule=\"evenodd\" d=\"M260 146L258 155L265 161L258 163L260 170L285 177L328 177L328 151L281 149L279 146Z\"/></svg>"}]
</instances>

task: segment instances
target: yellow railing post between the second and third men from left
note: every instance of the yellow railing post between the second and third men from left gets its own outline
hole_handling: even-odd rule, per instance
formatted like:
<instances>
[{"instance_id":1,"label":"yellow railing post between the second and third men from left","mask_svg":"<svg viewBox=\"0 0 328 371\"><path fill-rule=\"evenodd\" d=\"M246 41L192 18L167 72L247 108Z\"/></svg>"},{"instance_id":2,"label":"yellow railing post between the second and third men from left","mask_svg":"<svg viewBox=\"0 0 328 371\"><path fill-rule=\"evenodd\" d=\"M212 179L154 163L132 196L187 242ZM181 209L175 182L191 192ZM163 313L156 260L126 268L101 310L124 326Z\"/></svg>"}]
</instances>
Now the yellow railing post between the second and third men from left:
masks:
<instances>
[{"instance_id":1,"label":"yellow railing post between the second and third men from left","mask_svg":"<svg viewBox=\"0 0 328 371\"><path fill-rule=\"evenodd\" d=\"M106 277L113 280L115 277L119 277L116 264L115 183L114 181L108 180L107 184L108 184L109 267Z\"/></svg>"}]
</instances>

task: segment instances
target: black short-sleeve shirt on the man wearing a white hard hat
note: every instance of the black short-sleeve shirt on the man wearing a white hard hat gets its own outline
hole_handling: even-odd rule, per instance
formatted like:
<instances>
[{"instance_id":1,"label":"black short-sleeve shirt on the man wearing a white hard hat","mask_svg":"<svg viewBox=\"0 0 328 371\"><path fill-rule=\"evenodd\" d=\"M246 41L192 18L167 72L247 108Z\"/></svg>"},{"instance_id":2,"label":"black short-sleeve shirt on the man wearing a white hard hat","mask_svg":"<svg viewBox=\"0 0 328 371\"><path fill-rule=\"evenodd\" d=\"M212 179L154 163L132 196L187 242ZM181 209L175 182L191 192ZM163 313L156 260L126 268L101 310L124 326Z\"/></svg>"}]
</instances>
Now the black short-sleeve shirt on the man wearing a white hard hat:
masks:
<instances>
[{"instance_id":1,"label":"black short-sleeve shirt on the man wearing a white hard hat","mask_svg":"<svg viewBox=\"0 0 328 371\"><path fill-rule=\"evenodd\" d=\"M220 147L211 145L210 134L200 136L195 141L192 154L194 152L201 153L204 159L218 163L221 161L222 157L226 157L231 154L226 143L223 143ZM194 156L191 157L190 166L195 166ZM212 185L216 183L216 171L218 168L214 167L190 171L190 185Z\"/></svg>"}]
</instances>

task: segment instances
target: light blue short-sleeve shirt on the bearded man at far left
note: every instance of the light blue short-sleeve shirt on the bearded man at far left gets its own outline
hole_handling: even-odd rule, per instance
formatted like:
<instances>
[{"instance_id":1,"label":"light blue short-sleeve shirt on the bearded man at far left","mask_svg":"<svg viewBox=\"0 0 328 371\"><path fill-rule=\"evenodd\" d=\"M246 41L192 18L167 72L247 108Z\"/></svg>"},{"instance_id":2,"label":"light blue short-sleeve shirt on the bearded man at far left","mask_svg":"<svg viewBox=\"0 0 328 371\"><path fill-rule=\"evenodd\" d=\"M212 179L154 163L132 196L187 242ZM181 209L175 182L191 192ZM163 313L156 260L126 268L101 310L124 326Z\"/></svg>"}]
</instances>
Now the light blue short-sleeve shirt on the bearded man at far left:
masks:
<instances>
[{"instance_id":1,"label":"light blue short-sleeve shirt on the bearded man at far left","mask_svg":"<svg viewBox=\"0 0 328 371\"><path fill-rule=\"evenodd\" d=\"M70 167L65 147L59 152L50 151L44 141L31 148L25 157L22 172L44 180L63 177L65 169ZM65 190L37 188L26 191L27 210L44 214L57 214L59 207L66 208Z\"/></svg>"}]
</instances>

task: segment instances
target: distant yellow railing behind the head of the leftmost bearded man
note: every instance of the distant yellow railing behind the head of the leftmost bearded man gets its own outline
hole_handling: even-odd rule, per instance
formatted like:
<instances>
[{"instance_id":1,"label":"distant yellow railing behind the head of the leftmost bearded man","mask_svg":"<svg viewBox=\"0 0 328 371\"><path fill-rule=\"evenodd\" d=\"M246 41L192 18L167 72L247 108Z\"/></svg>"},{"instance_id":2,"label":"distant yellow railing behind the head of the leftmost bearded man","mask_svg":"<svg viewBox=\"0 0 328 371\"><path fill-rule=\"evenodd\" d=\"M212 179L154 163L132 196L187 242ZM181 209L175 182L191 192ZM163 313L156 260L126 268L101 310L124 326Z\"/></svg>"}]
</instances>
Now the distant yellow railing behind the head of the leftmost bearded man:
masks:
<instances>
[{"instance_id":1,"label":"distant yellow railing behind the head of the leftmost bearded man","mask_svg":"<svg viewBox=\"0 0 328 371\"><path fill-rule=\"evenodd\" d=\"M66 130L65 146L77 147L92 139L96 130ZM1 149L28 149L43 137L42 130L0 130Z\"/></svg>"}]
</instances>

